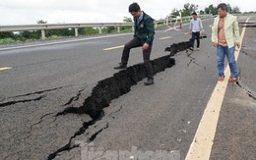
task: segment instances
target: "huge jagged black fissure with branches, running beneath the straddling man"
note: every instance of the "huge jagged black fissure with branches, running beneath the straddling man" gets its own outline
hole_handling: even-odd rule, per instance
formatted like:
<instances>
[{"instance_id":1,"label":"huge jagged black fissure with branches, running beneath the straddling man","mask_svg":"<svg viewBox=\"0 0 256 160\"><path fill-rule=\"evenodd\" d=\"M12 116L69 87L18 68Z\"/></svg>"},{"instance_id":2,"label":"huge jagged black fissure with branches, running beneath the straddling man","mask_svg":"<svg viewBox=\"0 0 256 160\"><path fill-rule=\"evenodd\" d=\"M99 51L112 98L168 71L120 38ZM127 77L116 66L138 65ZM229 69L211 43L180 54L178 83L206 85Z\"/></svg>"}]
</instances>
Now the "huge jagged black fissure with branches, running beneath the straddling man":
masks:
<instances>
[{"instance_id":1,"label":"huge jagged black fissure with branches, running beneath the straddling man","mask_svg":"<svg viewBox=\"0 0 256 160\"><path fill-rule=\"evenodd\" d=\"M170 47L166 47L165 51L169 51L169 55L151 61L154 73L160 73L165 69L171 68L173 65L175 65L175 60L170 57L174 56L179 51L187 50L189 45L190 41L185 41L177 44L173 43L172 45L170 45ZM144 64L137 64L131 66L126 70L119 71L111 78L98 81L96 86L93 88L91 96L85 99L81 107L67 107L66 109L64 109L64 111L56 114L56 117L70 113L88 114L93 120L84 123L83 127L80 128L79 131L69 139L69 143L61 147L57 151L49 154L48 159L54 159L58 155L58 153L65 150L71 150L74 147L78 147L71 145L72 139L75 138L77 135L85 133L90 126L96 124L96 121L100 120L104 115L103 108L107 107L111 100L128 93L131 90L132 85L137 84L138 81L141 81L145 78L146 71ZM66 103L67 106L72 106L72 101L77 99L80 95L81 94L79 92L76 97L72 97L69 102ZM89 138L89 141L93 141L96 138L96 135L102 132L104 129L105 128L99 130L97 133L94 133Z\"/></svg>"}]
</instances>

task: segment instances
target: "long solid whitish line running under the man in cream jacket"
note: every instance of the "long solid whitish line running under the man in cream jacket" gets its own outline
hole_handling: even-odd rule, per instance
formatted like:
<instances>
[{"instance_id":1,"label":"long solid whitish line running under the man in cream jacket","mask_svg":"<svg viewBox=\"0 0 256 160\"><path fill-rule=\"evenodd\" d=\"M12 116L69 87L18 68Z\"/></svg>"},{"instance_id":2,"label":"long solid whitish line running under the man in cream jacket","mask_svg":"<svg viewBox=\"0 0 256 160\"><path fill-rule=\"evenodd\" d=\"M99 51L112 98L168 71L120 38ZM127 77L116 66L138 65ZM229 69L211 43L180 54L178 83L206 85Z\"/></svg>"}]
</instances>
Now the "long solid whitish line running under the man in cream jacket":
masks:
<instances>
[{"instance_id":1,"label":"long solid whitish line running under the man in cream jacket","mask_svg":"<svg viewBox=\"0 0 256 160\"><path fill-rule=\"evenodd\" d=\"M247 19L246 23L249 21ZM241 33L241 44L244 37L245 27ZM235 60L239 56L241 47L235 51ZM225 79L219 81L212 93L212 96L207 104L204 115L200 121L195 137L190 145L186 160L207 160L210 159L212 146L214 143L217 124L220 116L220 111L224 101L224 92L226 90L228 78L230 77L229 67L224 70Z\"/></svg>"}]
</instances>

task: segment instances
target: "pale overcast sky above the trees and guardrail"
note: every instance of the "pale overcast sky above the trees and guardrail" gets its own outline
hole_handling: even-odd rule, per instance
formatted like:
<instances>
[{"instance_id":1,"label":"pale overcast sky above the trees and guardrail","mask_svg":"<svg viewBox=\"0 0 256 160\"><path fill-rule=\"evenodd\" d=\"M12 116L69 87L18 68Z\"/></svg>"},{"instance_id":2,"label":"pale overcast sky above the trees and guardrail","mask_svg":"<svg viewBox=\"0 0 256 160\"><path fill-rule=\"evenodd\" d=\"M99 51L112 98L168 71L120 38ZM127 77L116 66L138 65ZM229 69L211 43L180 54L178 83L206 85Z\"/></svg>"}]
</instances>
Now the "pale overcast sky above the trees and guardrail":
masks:
<instances>
[{"instance_id":1,"label":"pale overcast sky above the trees and guardrail","mask_svg":"<svg viewBox=\"0 0 256 160\"><path fill-rule=\"evenodd\" d=\"M38 20L47 24L122 23L131 3L155 20L164 19L171 11L183 9L185 3L199 5L204 10L218 1L238 6L241 12L256 11L256 0L0 0L0 26L34 25Z\"/></svg>"}]
</instances>

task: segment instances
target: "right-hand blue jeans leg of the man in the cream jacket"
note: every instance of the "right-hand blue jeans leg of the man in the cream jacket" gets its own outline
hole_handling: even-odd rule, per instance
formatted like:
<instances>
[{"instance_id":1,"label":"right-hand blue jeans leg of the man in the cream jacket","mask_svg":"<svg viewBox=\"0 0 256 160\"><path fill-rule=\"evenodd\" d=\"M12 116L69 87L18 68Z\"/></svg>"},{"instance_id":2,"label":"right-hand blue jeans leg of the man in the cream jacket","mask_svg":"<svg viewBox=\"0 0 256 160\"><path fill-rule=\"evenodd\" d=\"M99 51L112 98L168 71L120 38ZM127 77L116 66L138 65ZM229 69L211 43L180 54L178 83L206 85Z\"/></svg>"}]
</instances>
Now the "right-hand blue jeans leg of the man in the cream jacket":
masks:
<instances>
[{"instance_id":1,"label":"right-hand blue jeans leg of the man in the cream jacket","mask_svg":"<svg viewBox=\"0 0 256 160\"><path fill-rule=\"evenodd\" d=\"M231 78L235 78L237 79L238 77L238 67L237 64L235 62L235 58L234 58L234 50L235 47L231 47L231 48L226 48L226 57L228 60L228 64L229 64L229 68L230 68L230 73L231 73Z\"/></svg>"}]
</instances>

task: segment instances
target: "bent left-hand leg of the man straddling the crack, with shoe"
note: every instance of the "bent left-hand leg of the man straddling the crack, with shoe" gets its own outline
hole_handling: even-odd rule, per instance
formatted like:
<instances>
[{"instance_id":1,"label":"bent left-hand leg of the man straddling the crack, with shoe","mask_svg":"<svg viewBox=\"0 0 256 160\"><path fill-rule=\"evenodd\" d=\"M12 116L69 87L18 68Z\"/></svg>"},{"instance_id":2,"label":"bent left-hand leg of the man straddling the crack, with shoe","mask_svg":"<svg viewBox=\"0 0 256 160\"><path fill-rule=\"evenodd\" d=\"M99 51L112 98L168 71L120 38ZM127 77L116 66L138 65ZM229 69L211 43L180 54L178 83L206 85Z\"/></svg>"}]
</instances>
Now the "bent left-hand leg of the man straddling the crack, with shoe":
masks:
<instances>
[{"instance_id":1,"label":"bent left-hand leg of the man straddling the crack, with shoe","mask_svg":"<svg viewBox=\"0 0 256 160\"><path fill-rule=\"evenodd\" d=\"M126 43L123 48L121 63L119 64L119 66L115 67L114 69L125 69L129 60L130 50L132 48L139 47L139 46L142 46L142 44L140 39L136 37L133 38L128 43Z\"/></svg>"}]
</instances>

